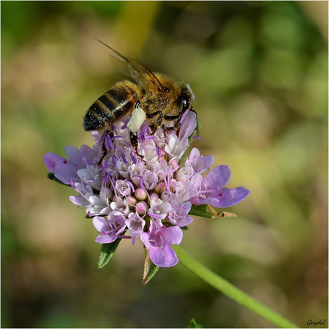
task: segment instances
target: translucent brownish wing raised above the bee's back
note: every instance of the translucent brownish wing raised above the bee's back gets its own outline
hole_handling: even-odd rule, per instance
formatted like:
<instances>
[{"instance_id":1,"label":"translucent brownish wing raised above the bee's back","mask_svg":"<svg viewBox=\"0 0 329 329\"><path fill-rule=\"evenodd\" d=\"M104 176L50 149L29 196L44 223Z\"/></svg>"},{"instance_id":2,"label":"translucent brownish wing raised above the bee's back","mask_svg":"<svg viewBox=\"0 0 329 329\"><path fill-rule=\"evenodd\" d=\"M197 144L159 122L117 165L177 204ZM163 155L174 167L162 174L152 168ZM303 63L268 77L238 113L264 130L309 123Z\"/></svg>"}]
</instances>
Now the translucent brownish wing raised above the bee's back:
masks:
<instances>
[{"instance_id":1,"label":"translucent brownish wing raised above the bee's back","mask_svg":"<svg viewBox=\"0 0 329 329\"><path fill-rule=\"evenodd\" d=\"M127 59L116 50L110 47L108 48L108 54L111 59L111 62L119 72L121 72L127 77L133 78L138 84L144 87L147 87L148 85L152 84L156 88L158 88L158 90L164 90L160 81L154 75L153 72L151 72L149 69L147 69L145 66L138 63L137 61Z\"/></svg>"}]
</instances>

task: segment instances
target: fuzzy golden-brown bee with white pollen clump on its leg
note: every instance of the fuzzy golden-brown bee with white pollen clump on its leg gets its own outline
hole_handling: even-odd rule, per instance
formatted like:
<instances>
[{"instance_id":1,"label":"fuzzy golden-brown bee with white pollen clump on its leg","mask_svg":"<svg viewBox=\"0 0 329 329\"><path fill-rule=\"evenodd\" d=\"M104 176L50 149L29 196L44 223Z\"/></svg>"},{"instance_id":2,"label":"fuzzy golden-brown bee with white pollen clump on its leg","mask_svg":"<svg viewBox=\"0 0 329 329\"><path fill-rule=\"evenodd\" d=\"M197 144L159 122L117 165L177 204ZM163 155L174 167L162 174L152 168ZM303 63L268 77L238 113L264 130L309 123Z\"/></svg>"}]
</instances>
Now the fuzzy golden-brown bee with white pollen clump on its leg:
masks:
<instances>
[{"instance_id":1,"label":"fuzzy golden-brown bee with white pollen clump on its leg","mask_svg":"<svg viewBox=\"0 0 329 329\"><path fill-rule=\"evenodd\" d=\"M113 137L113 124L131 115L127 123L130 140L136 154L141 156L137 151L137 131L144 120L150 125L152 134L159 127L165 130L178 129L186 111L195 113L192 108L194 94L189 84L151 72L137 61L125 58L102 41L99 42L109 48L109 57L114 67L125 76L133 78L135 83L130 80L119 81L99 97L84 116L84 130L101 130ZM101 160L106 154L104 143L103 151Z\"/></svg>"}]
</instances>

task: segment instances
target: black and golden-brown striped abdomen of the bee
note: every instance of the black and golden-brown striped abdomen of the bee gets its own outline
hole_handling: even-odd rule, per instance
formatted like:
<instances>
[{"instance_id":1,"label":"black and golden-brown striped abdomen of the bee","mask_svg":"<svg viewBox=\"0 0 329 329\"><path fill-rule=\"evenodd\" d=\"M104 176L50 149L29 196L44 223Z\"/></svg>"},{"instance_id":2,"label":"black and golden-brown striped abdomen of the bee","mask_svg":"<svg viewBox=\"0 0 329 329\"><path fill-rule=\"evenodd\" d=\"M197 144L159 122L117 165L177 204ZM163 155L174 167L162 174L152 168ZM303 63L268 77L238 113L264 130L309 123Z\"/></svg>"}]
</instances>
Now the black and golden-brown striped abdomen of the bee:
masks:
<instances>
[{"instance_id":1,"label":"black and golden-brown striped abdomen of the bee","mask_svg":"<svg viewBox=\"0 0 329 329\"><path fill-rule=\"evenodd\" d=\"M83 119L84 130L111 130L112 124L133 111L136 100L137 94L131 86L115 84L89 107Z\"/></svg>"}]
</instances>

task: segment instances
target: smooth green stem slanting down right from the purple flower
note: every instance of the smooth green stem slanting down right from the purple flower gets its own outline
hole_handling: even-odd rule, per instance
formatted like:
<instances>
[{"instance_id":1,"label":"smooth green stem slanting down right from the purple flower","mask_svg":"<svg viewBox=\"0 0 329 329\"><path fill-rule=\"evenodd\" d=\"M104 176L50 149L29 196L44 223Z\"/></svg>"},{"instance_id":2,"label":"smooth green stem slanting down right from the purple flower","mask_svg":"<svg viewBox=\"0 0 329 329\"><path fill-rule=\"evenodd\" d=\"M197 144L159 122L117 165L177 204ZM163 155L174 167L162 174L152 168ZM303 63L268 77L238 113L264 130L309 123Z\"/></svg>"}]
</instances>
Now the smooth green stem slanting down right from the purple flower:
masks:
<instances>
[{"instance_id":1,"label":"smooth green stem slanting down right from the purple flower","mask_svg":"<svg viewBox=\"0 0 329 329\"><path fill-rule=\"evenodd\" d=\"M255 314L258 314L260 317L268 320L269 322L277 325L281 328L297 328L296 324L285 319L276 312L273 312L271 309L267 308L257 300L245 294L242 290L235 287L233 284L229 283L222 277L216 275L210 269L200 264L198 261L193 259L183 248L180 246L172 246L179 259L179 263L188 268L192 273L194 273L199 278L205 280L207 283L212 285L217 290L221 291L226 296L232 298L237 303L247 307Z\"/></svg>"}]
</instances>

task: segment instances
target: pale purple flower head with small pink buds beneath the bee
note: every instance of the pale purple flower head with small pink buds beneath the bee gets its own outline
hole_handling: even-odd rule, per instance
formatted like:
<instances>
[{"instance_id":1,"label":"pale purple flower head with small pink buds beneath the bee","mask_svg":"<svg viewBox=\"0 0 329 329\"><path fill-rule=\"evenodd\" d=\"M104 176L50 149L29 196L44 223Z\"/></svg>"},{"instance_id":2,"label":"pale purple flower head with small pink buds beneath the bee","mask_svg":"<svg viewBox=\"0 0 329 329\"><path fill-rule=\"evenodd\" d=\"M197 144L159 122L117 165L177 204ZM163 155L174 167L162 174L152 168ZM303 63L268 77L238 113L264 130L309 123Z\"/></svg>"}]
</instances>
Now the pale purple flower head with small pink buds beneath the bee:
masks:
<instances>
[{"instance_id":1,"label":"pale purple flower head with small pink buds beneath the bee","mask_svg":"<svg viewBox=\"0 0 329 329\"><path fill-rule=\"evenodd\" d=\"M70 200L93 217L99 232L96 242L124 237L134 244L140 237L155 265L174 266L178 259L171 245L180 244L182 228L193 221L192 205L226 208L241 202L249 191L225 187L231 177L228 166L216 166L203 177L214 162L211 155L200 155L193 148L183 158L197 124L194 112L185 115L179 130L159 128L152 134L143 123L139 154L131 146L126 124L126 120L116 123L112 137L92 132L93 148L67 146L67 158L45 154L45 165L76 191Z\"/></svg>"}]
</instances>

